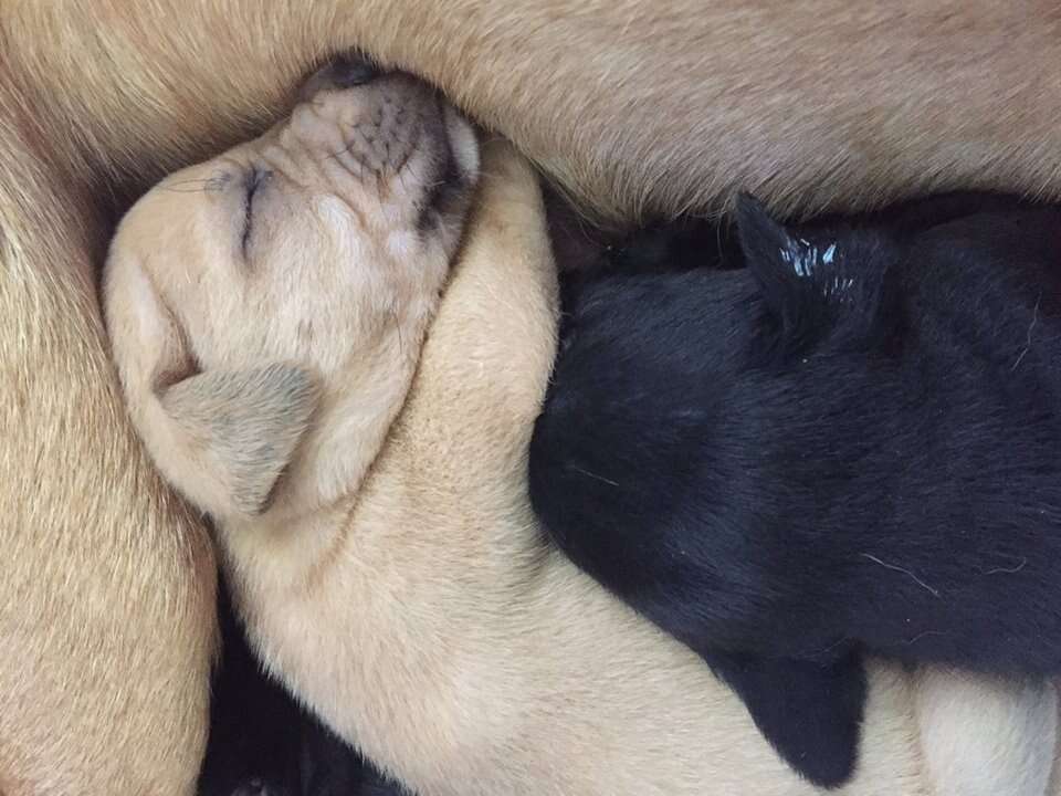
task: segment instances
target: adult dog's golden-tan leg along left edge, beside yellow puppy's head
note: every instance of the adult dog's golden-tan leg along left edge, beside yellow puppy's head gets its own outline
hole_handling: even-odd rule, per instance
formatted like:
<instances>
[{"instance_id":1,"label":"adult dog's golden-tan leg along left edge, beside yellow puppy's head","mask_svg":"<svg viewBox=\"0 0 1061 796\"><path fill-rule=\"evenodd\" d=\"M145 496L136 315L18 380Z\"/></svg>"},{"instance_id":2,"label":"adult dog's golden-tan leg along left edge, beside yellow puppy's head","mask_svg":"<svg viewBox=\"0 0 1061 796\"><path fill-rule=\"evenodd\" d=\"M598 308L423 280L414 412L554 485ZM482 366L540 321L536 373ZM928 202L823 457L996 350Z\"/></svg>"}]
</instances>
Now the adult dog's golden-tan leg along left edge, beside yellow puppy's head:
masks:
<instances>
[{"instance_id":1,"label":"adult dog's golden-tan leg along left edge, beside yellow puppy's head","mask_svg":"<svg viewBox=\"0 0 1061 796\"><path fill-rule=\"evenodd\" d=\"M92 197L0 85L0 794L185 796L213 564L123 417Z\"/></svg>"}]
</instances>

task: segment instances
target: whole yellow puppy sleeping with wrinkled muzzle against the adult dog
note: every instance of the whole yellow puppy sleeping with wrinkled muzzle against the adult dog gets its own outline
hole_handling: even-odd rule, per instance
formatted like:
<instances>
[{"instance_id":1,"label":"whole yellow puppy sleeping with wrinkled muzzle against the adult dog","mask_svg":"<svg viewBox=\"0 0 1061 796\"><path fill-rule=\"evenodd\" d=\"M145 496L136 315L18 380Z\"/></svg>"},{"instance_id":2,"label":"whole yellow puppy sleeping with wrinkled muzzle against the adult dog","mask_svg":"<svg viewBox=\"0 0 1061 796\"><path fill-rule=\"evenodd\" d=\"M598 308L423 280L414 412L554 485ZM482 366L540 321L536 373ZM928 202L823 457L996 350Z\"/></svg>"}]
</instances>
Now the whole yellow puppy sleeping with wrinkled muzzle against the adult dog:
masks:
<instances>
[{"instance_id":1,"label":"whole yellow puppy sleeping with wrinkled muzzle against the adult dog","mask_svg":"<svg viewBox=\"0 0 1061 796\"><path fill-rule=\"evenodd\" d=\"M421 796L812 793L534 522L556 285L507 148L424 337L476 169L464 123L393 76L149 192L105 282L148 449L213 515L269 664ZM902 675L871 680L841 793L933 793Z\"/></svg>"}]
</instances>

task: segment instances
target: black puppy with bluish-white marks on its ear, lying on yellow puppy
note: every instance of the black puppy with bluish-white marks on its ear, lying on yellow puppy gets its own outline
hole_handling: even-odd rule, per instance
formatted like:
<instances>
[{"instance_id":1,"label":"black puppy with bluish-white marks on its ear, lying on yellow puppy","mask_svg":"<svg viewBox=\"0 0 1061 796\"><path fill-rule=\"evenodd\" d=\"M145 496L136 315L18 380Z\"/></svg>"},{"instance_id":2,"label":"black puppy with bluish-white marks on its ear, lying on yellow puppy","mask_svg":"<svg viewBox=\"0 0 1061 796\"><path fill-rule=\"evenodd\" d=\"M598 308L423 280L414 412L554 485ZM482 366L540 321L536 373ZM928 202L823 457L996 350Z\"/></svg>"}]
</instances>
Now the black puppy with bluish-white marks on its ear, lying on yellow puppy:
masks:
<instances>
[{"instance_id":1,"label":"black puppy with bluish-white marks on its ear, lying on yellow puppy","mask_svg":"<svg viewBox=\"0 0 1061 796\"><path fill-rule=\"evenodd\" d=\"M1061 210L954 196L797 230L746 197L736 228L729 270L565 293L530 495L836 786L861 652L1061 671Z\"/></svg>"}]
</instances>

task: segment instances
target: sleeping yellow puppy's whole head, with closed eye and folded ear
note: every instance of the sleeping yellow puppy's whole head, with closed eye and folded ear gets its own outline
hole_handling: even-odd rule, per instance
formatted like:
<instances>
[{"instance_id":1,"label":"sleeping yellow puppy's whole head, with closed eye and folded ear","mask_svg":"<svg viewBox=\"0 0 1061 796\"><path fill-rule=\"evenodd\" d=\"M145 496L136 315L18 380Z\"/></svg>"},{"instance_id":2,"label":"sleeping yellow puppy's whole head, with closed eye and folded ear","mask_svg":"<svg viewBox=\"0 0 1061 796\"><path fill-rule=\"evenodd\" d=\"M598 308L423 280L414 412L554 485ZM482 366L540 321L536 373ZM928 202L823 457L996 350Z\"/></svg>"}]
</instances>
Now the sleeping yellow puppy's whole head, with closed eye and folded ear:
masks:
<instances>
[{"instance_id":1,"label":"sleeping yellow puppy's whole head, with closed eye and folded ear","mask_svg":"<svg viewBox=\"0 0 1061 796\"><path fill-rule=\"evenodd\" d=\"M356 488L405 400L479 149L408 75L342 62L261 138L148 192L104 302L141 437L216 517Z\"/></svg>"}]
</instances>

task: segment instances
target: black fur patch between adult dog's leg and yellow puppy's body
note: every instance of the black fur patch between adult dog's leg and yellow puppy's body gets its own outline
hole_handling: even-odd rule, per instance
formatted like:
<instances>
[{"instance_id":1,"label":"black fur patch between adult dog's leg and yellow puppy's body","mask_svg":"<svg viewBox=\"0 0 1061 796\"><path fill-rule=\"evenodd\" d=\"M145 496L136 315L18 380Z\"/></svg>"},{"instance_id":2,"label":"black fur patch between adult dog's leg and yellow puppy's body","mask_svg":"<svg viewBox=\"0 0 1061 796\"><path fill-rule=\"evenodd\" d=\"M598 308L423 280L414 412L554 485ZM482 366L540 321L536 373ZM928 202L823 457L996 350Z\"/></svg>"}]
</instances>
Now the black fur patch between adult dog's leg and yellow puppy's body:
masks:
<instances>
[{"instance_id":1,"label":"black fur patch between adult dog's leg and yellow puppy's body","mask_svg":"<svg viewBox=\"0 0 1061 796\"><path fill-rule=\"evenodd\" d=\"M409 796L263 672L219 599L223 641L200 796Z\"/></svg>"}]
</instances>

